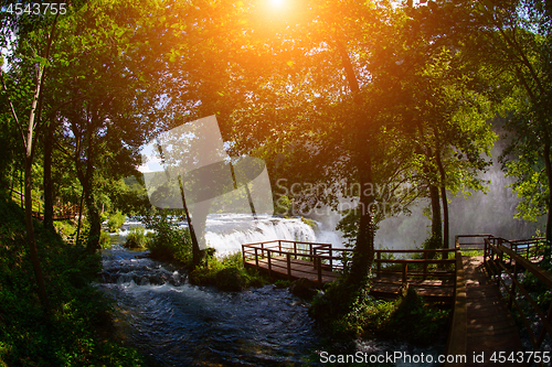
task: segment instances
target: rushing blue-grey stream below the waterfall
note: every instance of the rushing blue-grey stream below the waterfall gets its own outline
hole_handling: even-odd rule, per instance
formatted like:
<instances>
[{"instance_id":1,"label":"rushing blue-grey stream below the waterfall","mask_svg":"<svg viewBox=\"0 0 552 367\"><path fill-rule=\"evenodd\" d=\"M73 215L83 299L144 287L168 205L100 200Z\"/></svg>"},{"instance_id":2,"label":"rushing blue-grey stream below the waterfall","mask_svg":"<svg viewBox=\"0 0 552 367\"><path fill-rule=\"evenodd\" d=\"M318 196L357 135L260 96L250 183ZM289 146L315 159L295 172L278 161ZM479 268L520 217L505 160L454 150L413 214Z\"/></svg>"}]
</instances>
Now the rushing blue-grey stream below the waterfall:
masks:
<instances>
[{"instance_id":1,"label":"rushing blue-grey stream below the waterfall","mask_svg":"<svg viewBox=\"0 0 552 367\"><path fill-rule=\"evenodd\" d=\"M311 229L307 234L312 236ZM308 304L287 289L221 292L192 285L182 269L149 259L148 251L127 250L123 241L114 236L112 248L103 251L99 287L116 301L117 337L153 366L322 366L320 350L415 353L383 342L339 346L308 316Z\"/></svg>"}]
</instances>

